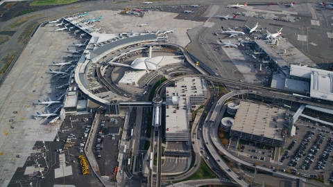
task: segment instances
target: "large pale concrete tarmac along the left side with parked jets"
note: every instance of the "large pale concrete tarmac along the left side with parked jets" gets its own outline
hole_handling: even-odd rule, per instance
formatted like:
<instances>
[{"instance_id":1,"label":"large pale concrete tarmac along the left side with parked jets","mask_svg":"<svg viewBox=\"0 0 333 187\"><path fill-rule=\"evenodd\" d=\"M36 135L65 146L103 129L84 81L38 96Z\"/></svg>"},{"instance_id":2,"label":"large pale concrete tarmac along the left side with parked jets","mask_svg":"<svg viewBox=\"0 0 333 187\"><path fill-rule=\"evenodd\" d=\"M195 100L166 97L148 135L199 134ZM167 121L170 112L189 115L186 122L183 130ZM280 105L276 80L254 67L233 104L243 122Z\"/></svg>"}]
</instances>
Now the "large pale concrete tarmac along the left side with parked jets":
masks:
<instances>
[{"instance_id":1,"label":"large pale concrete tarmac along the left side with parked jets","mask_svg":"<svg viewBox=\"0 0 333 187\"><path fill-rule=\"evenodd\" d=\"M77 42L66 32L52 30L53 26L37 30L1 86L0 130L4 136L0 137L0 152L3 152L4 162L0 163L3 168L0 175L5 180L0 181L0 184L9 181L17 167L24 165L36 141L53 141L59 129L58 123L49 124L47 118L32 118L36 112L53 113L53 109L60 105L53 105L52 109L33 103L47 98L56 100L65 92L56 87L66 84L68 80L60 80L58 76L52 76L46 71L49 71L52 60L62 60L62 57L67 56L66 48L72 42ZM54 66L50 68L60 70ZM22 156L12 160L15 152L22 152Z\"/></svg>"}]
</instances>

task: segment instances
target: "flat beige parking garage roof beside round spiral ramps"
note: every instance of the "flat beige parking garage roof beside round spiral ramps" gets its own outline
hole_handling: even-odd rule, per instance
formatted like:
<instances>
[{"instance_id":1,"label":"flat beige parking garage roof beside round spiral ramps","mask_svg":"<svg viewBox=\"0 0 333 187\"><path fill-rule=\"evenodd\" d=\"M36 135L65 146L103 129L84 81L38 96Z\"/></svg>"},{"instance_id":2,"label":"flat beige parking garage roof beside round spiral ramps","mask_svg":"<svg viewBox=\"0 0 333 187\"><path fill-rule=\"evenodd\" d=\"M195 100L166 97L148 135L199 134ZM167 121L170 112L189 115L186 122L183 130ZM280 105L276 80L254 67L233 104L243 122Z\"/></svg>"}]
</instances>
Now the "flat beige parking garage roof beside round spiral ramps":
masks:
<instances>
[{"instance_id":1,"label":"flat beige parking garage roof beside round spiral ramps","mask_svg":"<svg viewBox=\"0 0 333 187\"><path fill-rule=\"evenodd\" d=\"M280 129L284 127L286 112L286 109L241 101L231 130L283 141Z\"/></svg>"}]
</instances>

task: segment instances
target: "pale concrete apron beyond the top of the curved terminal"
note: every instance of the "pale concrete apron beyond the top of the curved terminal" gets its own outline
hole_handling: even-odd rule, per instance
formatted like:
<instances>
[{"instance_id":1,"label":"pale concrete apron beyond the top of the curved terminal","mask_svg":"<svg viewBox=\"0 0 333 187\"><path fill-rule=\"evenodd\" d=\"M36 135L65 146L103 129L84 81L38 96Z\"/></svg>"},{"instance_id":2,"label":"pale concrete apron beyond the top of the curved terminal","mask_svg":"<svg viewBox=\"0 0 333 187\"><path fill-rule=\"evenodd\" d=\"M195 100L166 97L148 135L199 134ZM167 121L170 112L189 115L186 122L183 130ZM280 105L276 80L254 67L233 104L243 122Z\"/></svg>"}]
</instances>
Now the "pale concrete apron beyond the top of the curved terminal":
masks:
<instances>
[{"instance_id":1,"label":"pale concrete apron beyond the top of the curved terminal","mask_svg":"<svg viewBox=\"0 0 333 187\"><path fill-rule=\"evenodd\" d=\"M168 34L168 42L184 47L190 42L187 30L203 24L203 21L175 19L177 15L177 13L171 12L148 11L144 17L133 17L133 15L123 15L118 10L101 10L89 12L85 19L102 16L101 22L94 24L96 28L102 28L100 32L105 31L107 34L130 31L155 33L157 30L164 32L173 29L174 32ZM146 23L148 23L147 26L138 26Z\"/></svg>"}]
</instances>

